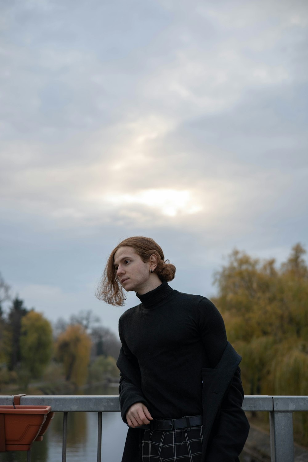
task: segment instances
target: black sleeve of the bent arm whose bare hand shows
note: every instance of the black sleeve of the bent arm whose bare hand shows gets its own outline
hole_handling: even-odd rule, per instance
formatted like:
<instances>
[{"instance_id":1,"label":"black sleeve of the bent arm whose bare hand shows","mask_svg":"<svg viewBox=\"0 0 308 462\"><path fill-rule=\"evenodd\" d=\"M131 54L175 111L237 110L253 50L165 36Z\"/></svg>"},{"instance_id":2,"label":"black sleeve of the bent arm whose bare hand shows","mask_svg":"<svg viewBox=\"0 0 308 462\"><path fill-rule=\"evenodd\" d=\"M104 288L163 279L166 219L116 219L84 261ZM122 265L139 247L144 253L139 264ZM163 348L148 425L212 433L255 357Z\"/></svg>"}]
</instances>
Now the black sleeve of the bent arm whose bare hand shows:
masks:
<instances>
[{"instance_id":1,"label":"black sleeve of the bent arm whose bare hand shows","mask_svg":"<svg viewBox=\"0 0 308 462\"><path fill-rule=\"evenodd\" d=\"M121 340L121 350L117 360L120 369L120 406L122 420L127 424L126 414L128 409L136 402L142 402L149 406L141 391L141 377L137 358L129 350L124 336L121 332L119 322L119 334Z\"/></svg>"}]
</instances>

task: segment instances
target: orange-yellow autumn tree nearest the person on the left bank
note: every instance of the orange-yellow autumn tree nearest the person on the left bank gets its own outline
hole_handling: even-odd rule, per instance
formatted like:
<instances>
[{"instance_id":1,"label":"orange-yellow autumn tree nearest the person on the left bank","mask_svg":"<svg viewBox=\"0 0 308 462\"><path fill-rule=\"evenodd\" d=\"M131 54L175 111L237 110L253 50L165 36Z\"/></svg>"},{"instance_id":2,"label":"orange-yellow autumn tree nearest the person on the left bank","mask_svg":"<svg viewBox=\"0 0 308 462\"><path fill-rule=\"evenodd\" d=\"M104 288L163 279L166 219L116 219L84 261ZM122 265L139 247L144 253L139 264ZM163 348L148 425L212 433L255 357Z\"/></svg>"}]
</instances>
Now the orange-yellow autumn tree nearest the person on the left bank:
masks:
<instances>
[{"instance_id":1,"label":"orange-yellow autumn tree nearest the person on the left bank","mask_svg":"<svg viewBox=\"0 0 308 462\"><path fill-rule=\"evenodd\" d=\"M56 357L63 363L66 381L78 386L86 382L91 339L80 324L69 325L56 342Z\"/></svg>"}]
</instances>

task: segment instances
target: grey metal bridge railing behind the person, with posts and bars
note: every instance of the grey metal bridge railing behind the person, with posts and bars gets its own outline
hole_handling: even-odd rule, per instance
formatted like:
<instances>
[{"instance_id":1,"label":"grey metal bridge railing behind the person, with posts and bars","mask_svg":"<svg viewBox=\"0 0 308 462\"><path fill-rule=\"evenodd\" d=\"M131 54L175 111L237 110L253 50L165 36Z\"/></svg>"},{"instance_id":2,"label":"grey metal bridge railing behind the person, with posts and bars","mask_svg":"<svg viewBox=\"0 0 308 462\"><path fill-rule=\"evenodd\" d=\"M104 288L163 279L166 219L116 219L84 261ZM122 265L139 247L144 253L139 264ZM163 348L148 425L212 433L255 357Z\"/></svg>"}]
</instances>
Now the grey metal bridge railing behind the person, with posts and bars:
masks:
<instances>
[{"instance_id":1,"label":"grey metal bridge railing behind the person, with posts and bars","mask_svg":"<svg viewBox=\"0 0 308 462\"><path fill-rule=\"evenodd\" d=\"M10 405L14 396L0 396L0 405ZM20 398L23 405L51 406L53 412L63 412L62 462L66 462L66 434L68 412L97 412L97 462L102 460L103 412L119 412L118 395L26 395ZM308 411L308 396L246 395L244 411L270 413L271 462L294 462L292 413ZM31 461L31 450L27 462Z\"/></svg>"}]
</instances>

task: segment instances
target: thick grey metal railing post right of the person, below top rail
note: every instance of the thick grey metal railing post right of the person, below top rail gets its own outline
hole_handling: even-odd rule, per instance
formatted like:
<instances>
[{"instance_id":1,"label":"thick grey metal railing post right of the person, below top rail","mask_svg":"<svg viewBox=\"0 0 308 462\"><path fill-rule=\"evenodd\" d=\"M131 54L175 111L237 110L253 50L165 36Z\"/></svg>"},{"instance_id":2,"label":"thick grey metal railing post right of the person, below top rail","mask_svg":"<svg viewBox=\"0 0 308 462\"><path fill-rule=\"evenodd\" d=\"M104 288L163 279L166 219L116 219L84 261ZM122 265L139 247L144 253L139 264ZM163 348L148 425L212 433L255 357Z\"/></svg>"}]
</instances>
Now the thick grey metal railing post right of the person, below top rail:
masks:
<instances>
[{"instance_id":1,"label":"thick grey metal railing post right of the person, below top rail","mask_svg":"<svg viewBox=\"0 0 308 462\"><path fill-rule=\"evenodd\" d=\"M294 462L291 412L270 412L271 462Z\"/></svg>"}]
</instances>

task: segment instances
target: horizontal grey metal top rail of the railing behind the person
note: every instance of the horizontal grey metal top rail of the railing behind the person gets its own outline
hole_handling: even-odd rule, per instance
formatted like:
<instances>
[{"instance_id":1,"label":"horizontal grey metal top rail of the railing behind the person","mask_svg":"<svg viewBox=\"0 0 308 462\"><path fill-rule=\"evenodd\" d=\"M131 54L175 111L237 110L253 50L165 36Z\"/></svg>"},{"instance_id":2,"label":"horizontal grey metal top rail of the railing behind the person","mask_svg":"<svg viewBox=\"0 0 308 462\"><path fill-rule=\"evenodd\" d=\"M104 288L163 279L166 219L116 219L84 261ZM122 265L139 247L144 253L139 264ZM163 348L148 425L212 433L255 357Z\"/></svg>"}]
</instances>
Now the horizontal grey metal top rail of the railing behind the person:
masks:
<instances>
[{"instance_id":1,"label":"horizontal grey metal top rail of the railing behind the person","mask_svg":"<svg viewBox=\"0 0 308 462\"><path fill-rule=\"evenodd\" d=\"M13 395L0 395L0 405L12 405ZM50 405L54 412L118 412L119 395L25 395L24 405ZM308 396L245 395L244 411L308 411Z\"/></svg>"}]
</instances>

